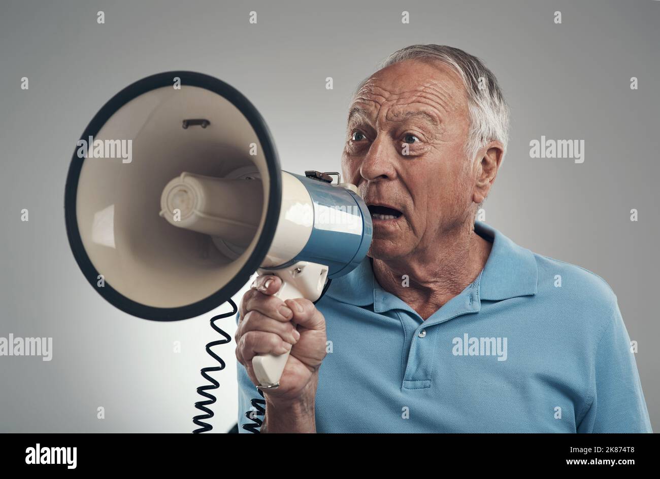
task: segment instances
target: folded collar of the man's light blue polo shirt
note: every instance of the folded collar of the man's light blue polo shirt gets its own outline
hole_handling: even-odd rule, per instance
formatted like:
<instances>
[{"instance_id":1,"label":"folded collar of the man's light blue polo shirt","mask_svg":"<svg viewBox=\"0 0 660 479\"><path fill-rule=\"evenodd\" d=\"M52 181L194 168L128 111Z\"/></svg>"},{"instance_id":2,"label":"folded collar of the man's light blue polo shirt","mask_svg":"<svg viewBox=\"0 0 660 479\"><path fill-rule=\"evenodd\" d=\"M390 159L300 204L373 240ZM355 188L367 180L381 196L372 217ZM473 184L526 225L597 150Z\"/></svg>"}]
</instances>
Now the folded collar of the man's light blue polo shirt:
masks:
<instances>
[{"instance_id":1,"label":"folded collar of the man's light blue polo shirt","mask_svg":"<svg viewBox=\"0 0 660 479\"><path fill-rule=\"evenodd\" d=\"M492 241L486 265L476 281L482 300L504 300L537 293L538 268L533 252L515 244L508 237L483 223L475 221L475 232ZM374 304L380 285L374 278L368 257L342 277L333 279L326 295L355 306Z\"/></svg>"}]
</instances>

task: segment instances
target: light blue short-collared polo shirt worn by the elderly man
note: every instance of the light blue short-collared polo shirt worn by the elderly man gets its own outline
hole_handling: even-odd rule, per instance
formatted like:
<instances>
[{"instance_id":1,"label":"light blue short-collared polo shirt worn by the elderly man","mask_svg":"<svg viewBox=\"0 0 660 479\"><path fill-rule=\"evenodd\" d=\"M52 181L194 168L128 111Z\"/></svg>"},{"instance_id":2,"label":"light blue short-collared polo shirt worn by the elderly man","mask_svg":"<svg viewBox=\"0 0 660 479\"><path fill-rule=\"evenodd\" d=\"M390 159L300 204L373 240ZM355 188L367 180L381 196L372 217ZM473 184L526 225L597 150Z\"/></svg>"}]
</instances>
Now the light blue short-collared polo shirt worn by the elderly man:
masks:
<instances>
[{"instance_id":1,"label":"light blue short-collared polo shirt worn by the elderly man","mask_svg":"<svg viewBox=\"0 0 660 479\"><path fill-rule=\"evenodd\" d=\"M317 432L651 432L609 285L475 231L492 242L486 265L426 320L381 289L369 258L333 280L316 305L329 341ZM241 364L238 385L246 432L261 397Z\"/></svg>"}]
</instances>

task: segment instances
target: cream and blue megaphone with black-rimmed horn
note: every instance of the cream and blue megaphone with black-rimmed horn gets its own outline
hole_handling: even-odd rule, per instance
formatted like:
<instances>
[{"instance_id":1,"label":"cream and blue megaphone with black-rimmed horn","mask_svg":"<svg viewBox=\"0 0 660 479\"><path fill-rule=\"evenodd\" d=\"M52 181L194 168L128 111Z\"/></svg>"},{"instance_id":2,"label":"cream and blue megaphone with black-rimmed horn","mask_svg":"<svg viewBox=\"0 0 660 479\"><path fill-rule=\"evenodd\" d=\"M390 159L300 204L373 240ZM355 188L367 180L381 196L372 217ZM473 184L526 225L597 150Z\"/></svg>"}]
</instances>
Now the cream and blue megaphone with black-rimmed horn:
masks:
<instances>
[{"instance_id":1,"label":"cream and blue megaphone with black-rimmed horn","mask_svg":"<svg viewBox=\"0 0 660 479\"><path fill-rule=\"evenodd\" d=\"M65 221L92 287L158 321L213 310L254 271L281 277L282 300L315 301L372 239L356 186L282 171L248 99L188 71L143 78L96 113L71 160ZM255 356L260 387L279 385L287 358Z\"/></svg>"}]
</instances>

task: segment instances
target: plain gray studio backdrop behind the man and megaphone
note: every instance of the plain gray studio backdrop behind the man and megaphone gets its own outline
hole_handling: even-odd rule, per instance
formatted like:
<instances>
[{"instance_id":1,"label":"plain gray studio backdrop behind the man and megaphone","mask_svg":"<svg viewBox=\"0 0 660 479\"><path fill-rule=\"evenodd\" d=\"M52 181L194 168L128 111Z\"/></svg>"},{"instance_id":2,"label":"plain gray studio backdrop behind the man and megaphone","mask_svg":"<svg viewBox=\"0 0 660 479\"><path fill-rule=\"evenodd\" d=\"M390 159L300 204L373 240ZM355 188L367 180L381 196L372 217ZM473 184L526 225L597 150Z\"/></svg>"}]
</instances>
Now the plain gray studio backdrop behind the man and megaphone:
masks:
<instances>
[{"instance_id":1,"label":"plain gray studio backdrop behind the man and megaphone","mask_svg":"<svg viewBox=\"0 0 660 479\"><path fill-rule=\"evenodd\" d=\"M100 10L105 24L96 23ZM402 11L410 24L401 24ZM335 171L356 84L412 43L465 49L500 79L512 136L484 204L486 223L611 285L639 343L660 430L659 24L653 0L2 0L0 336L53 337L53 360L0 357L0 431L190 432L199 369L215 365L204 351L218 337L211 312L171 324L128 316L96 294L69 250L63 196L71 153L108 99L156 72L205 72L261 111L284 169ZM29 90L20 89L22 76ZM325 89L327 76L334 90ZM631 76L639 90L630 90ZM585 140L584 163L531 159L529 141L541 135ZM224 326L233 335L233 320ZM212 424L224 432L236 422L234 345L216 351L228 366L216 374ZM100 406L104 420L96 418Z\"/></svg>"}]
</instances>

